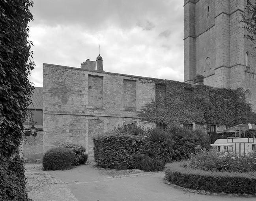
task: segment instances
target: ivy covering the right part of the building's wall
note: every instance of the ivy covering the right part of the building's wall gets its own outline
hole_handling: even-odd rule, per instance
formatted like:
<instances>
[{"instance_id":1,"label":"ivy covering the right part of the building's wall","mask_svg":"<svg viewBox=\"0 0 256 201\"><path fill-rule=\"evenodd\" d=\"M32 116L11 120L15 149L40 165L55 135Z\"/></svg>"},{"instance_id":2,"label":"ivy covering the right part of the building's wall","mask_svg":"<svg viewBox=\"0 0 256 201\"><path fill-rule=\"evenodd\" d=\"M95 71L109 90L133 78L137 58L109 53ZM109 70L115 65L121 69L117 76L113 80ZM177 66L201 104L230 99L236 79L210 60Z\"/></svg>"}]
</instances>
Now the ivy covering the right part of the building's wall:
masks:
<instances>
[{"instance_id":1,"label":"ivy covering the right part of the building's wall","mask_svg":"<svg viewBox=\"0 0 256 201\"><path fill-rule=\"evenodd\" d=\"M256 113L247 112L242 89L212 88L161 79L148 82L155 82L156 98L139 114L145 121L165 123L167 128L192 123L229 127L256 122Z\"/></svg>"}]
</instances>

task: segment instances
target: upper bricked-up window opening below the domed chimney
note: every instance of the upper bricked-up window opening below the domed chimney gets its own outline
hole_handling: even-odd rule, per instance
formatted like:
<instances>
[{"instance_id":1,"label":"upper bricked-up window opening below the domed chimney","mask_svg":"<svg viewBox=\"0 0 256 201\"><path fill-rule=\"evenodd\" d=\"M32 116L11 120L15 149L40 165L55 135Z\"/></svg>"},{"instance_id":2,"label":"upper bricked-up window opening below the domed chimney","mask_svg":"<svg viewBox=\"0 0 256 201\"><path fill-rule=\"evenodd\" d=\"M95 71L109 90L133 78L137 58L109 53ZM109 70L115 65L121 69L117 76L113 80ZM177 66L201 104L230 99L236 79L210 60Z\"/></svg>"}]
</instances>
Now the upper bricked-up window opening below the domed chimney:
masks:
<instances>
[{"instance_id":1,"label":"upper bricked-up window opening below the domed chimney","mask_svg":"<svg viewBox=\"0 0 256 201\"><path fill-rule=\"evenodd\" d=\"M89 105L103 106L103 76L89 75L88 77Z\"/></svg>"}]
</instances>

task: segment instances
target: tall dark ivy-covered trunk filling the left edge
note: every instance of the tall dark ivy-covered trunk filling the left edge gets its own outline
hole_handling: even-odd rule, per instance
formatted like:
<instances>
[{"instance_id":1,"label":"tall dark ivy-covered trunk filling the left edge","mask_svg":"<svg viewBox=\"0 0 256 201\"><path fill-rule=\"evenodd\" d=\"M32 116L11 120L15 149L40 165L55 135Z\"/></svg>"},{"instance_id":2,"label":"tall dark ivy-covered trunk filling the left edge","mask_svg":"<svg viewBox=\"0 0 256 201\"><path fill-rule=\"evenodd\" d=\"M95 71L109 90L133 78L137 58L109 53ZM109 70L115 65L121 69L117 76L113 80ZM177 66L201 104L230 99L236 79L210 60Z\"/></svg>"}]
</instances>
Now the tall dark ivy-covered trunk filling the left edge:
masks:
<instances>
[{"instance_id":1,"label":"tall dark ivy-covered trunk filling the left edge","mask_svg":"<svg viewBox=\"0 0 256 201\"><path fill-rule=\"evenodd\" d=\"M19 157L34 62L27 41L31 0L0 0L0 200L28 201Z\"/></svg>"}]
</instances>

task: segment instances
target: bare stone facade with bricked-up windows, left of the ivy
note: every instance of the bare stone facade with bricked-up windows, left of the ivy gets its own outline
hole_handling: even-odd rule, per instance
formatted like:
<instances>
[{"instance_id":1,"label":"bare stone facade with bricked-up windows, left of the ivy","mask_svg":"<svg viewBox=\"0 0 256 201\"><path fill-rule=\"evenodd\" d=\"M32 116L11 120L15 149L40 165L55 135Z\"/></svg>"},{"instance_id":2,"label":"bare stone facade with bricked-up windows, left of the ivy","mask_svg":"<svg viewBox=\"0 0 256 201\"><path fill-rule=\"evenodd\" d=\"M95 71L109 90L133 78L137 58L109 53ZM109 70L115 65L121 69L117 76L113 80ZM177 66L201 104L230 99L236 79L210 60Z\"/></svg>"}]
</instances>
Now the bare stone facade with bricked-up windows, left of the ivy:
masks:
<instances>
[{"instance_id":1,"label":"bare stone facade with bricked-up windows, left of the ivy","mask_svg":"<svg viewBox=\"0 0 256 201\"><path fill-rule=\"evenodd\" d=\"M93 137L124 124L149 127L138 111L155 99L155 86L143 77L43 64L43 151L62 142L80 143L93 157ZM101 58L102 67L102 58Z\"/></svg>"}]
</instances>

